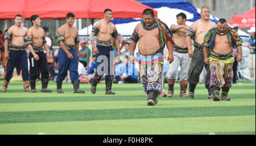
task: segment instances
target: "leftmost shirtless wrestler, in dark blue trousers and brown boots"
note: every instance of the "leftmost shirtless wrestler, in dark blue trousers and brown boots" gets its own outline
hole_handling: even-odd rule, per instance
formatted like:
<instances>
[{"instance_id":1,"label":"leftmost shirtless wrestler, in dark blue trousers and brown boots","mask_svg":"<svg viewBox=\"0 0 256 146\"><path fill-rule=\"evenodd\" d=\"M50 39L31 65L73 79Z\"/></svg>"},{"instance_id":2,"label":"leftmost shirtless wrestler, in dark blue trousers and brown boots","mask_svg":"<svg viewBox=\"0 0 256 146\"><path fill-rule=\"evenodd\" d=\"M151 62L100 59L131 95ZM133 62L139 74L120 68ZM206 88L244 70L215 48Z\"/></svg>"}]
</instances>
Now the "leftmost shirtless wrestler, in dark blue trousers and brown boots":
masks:
<instances>
[{"instance_id":1,"label":"leftmost shirtless wrestler, in dark blue trousers and brown boots","mask_svg":"<svg viewBox=\"0 0 256 146\"><path fill-rule=\"evenodd\" d=\"M3 80L2 92L6 92L7 86L13 70L17 63L19 63L22 70L22 79L24 81L23 91L30 92L30 79L28 74L27 51L23 38L27 35L27 28L22 26L22 16L16 15L14 18L14 25L5 33L5 58L8 59L7 70L5 72L5 79ZM8 49L10 51L8 53Z\"/></svg>"}]
</instances>

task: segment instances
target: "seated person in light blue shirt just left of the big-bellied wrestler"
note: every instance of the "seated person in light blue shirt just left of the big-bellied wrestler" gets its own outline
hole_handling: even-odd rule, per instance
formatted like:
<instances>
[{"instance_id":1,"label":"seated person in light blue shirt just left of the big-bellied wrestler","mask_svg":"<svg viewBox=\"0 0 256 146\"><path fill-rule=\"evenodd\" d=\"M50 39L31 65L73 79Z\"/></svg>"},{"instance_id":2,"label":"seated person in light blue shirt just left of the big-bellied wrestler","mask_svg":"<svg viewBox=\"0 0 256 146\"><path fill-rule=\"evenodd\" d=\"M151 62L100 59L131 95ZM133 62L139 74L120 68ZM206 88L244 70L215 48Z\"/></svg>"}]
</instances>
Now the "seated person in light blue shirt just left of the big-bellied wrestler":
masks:
<instances>
[{"instance_id":1,"label":"seated person in light blue shirt just left of the big-bellied wrestler","mask_svg":"<svg viewBox=\"0 0 256 146\"><path fill-rule=\"evenodd\" d=\"M115 79L124 83L138 83L138 75L139 73L134 64L129 63L128 57L125 57L119 67L119 71L115 73Z\"/></svg>"}]
</instances>

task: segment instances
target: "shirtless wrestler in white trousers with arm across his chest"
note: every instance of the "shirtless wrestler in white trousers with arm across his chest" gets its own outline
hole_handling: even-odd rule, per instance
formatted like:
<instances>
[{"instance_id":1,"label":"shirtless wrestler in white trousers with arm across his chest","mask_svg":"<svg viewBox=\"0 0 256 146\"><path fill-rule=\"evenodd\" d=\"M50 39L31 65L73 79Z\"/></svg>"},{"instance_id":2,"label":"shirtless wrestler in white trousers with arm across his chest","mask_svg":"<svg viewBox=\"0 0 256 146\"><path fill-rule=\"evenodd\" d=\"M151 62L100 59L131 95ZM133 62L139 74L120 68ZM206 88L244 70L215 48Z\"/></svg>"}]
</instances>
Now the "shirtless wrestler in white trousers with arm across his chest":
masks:
<instances>
[{"instance_id":1,"label":"shirtless wrestler in white trousers with arm across his chest","mask_svg":"<svg viewBox=\"0 0 256 146\"><path fill-rule=\"evenodd\" d=\"M189 25L186 24L187 16L181 12L176 15L177 24L171 25L171 31L174 33L174 62L169 65L168 70L168 95L174 96L174 83L178 68L180 66L180 97L188 97L186 94L188 86L188 68L190 58L188 57L188 47L186 43L186 33Z\"/></svg>"}]
</instances>

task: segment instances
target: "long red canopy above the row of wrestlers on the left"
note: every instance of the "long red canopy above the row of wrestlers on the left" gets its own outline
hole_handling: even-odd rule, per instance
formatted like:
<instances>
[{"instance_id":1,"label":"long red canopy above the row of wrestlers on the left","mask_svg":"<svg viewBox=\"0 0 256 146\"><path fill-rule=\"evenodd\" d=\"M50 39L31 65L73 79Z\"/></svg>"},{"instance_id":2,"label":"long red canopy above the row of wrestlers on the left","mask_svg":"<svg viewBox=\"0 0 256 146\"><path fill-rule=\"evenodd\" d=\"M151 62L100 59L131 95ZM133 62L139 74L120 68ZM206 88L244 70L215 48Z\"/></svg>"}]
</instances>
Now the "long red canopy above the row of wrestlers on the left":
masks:
<instances>
[{"instance_id":1,"label":"long red canopy above the row of wrestlers on the left","mask_svg":"<svg viewBox=\"0 0 256 146\"><path fill-rule=\"evenodd\" d=\"M68 12L76 18L104 18L106 8L113 11L113 18L142 18L142 11L151 7L134 0L2 0L0 19L14 19L16 14L24 18L34 14L42 19L65 18ZM157 16L157 11L154 12Z\"/></svg>"}]
</instances>

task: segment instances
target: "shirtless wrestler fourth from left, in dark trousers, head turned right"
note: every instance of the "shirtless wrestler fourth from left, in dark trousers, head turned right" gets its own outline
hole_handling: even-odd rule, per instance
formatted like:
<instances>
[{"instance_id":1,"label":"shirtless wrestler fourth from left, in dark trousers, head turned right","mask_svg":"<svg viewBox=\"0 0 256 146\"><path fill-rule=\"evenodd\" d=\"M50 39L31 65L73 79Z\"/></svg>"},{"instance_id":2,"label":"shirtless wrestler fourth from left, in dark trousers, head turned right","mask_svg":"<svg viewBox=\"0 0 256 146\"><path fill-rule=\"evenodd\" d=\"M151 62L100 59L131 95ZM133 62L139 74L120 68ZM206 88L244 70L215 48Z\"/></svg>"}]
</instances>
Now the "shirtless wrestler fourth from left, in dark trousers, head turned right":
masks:
<instances>
[{"instance_id":1,"label":"shirtless wrestler fourth from left, in dark trousers, head turned right","mask_svg":"<svg viewBox=\"0 0 256 146\"><path fill-rule=\"evenodd\" d=\"M90 42L93 46L93 53L96 54L96 67L97 72L94 75L90 91L94 94L96 92L97 83L100 81L103 73L105 72L105 84L106 84L106 95L114 95L115 93L111 91L113 83L113 71L114 71L114 58L110 55L110 52L113 51L111 44L111 36L114 38L115 46L117 46L117 56L120 53L118 32L115 25L110 22L113 17L113 12L109 8L104 11L104 19L98 22L92 29L90 33ZM97 36L96 45L94 43L94 36ZM113 51L114 52L114 51ZM104 58L107 59L104 61ZM114 57L114 56L113 56ZM101 59L101 62L98 60ZM100 68L99 66L104 63L105 67L108 68L104 70L104 67ZM98 68L99 67L99 68Z\"/></svg>"}]
</instances>

